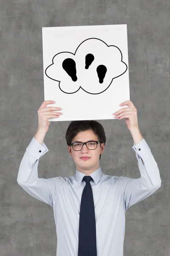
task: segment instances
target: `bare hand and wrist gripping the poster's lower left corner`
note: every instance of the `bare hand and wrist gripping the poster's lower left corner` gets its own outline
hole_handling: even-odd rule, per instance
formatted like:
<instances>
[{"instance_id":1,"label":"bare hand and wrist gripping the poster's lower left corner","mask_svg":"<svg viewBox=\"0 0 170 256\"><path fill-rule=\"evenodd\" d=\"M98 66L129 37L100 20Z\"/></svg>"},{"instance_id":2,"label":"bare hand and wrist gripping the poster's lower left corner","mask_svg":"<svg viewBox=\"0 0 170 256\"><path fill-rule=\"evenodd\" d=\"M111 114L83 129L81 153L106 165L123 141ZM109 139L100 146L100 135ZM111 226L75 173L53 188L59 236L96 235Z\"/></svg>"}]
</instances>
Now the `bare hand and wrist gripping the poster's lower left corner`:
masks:
<instances>
[{"instance_id":1,"label":"bare hand and wrist gripping the poster's lower left corner","mask_svg":"<svg viewBox=\"0 0 170 256\"><path fill-rule=\"evenodd\" d=\"M55 112L61 110L61 108L57 107L47 107L48 104L54 104L55 102L51 100L45 100L42 102L42 105L40 106L38 112L38 128L37 132L34 135L34 138L42 145L42 142L44 140L45 134L48 131L48 126L50 122L48 122L48 118L57 118L62 113L61 112Z\"/></svg>"}]
</instances>

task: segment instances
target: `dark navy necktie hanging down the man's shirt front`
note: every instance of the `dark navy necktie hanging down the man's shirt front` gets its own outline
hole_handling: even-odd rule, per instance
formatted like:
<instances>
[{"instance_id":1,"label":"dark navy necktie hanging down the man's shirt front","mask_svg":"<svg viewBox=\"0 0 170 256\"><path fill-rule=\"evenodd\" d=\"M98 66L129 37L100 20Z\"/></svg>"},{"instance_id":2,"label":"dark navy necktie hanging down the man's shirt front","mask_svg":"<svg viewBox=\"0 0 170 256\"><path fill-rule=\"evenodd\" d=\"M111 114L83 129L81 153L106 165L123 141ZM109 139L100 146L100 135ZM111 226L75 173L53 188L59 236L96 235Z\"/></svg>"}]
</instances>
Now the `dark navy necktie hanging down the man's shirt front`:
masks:
<instances>
[{"instance_id":1,"label":"dark navy necktie hanging down the man's shirt front","mask_svg":"<svg viewBox=\"0 0 170 256\"><path fill-rule=\"evenodd\" d=\"M80 204L78 256L97 256L94 199L90 184L92 177L84 176L82 180L86 185Z\"/></svg>"}]
</instances>

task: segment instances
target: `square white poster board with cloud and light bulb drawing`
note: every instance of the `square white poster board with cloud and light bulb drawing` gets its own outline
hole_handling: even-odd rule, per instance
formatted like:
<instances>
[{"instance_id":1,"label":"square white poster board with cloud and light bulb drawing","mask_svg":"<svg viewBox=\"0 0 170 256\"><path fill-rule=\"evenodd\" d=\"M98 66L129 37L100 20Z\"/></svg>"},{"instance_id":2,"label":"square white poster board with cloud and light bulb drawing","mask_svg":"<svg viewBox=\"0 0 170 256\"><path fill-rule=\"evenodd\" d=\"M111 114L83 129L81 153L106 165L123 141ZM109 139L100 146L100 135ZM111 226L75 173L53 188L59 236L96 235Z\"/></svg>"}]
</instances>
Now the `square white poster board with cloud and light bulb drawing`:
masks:
<instances>
[{"instance_id":1,"label":"square white poster board with cloud and light bulb drawing","mask_svg":"<svg viewBox=\"0 0 170 256\"><path fill-rule=\"evenodd\" d=\"M45 27L42 47L45 100L63 113L49 121L114 119L130 99L126 24Z\"/></svg>"}]
</instances>

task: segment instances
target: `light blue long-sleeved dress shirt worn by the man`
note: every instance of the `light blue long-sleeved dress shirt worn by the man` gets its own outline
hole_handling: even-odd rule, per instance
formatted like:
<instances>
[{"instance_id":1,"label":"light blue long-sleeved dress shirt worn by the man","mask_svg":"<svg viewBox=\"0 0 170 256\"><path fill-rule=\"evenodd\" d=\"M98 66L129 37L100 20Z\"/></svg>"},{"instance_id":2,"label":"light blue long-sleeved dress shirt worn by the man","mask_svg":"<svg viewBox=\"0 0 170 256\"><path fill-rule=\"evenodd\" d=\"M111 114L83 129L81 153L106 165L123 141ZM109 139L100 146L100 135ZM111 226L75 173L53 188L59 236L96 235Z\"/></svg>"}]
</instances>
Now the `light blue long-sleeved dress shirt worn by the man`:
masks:
<instances>
[{"instance_id":1,"label":"light blue long-sleeved dress shirt worn by the man","mask_svg":"<svg viewBox=\"0 0 170 256\"><path fill-rule=\"evenodd\" d=\"M123 256L125 211L161 186L158 165L144 138L133 145L141 177L105 175L100 166L90 176L96 218L97 256ZM71 177L39 178L40 157L48 152L33 137L26 148L17 176L28 194L51 205L57 232L57 256L78 255L79 211L85 176L76 169Z\"/></svg>"}]
</instances>

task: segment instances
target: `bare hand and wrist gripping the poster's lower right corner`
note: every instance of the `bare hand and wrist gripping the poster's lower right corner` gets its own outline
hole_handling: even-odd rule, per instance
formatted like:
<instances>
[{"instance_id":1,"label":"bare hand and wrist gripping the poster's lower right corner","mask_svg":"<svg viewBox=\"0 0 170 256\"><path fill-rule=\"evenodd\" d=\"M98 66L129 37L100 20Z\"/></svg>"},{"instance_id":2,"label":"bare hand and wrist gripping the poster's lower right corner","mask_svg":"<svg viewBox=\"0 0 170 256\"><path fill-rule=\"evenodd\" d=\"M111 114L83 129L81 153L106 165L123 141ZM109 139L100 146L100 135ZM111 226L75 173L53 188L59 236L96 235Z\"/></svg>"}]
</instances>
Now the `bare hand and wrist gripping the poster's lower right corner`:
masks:
<instances>
[{"instance_id":1,"label":"bare hand and wrist gripping the poster's lower right corner","mask_svg":"<svg viewBox=\"0 0 170 256\"><path fill-rule=\"evenodd\" d=\"M114 117L119 120L125 118L127 128L130 130L132 134L134 143L137 144L143 139L138 126L137 110L133 105L133 102L131 102L131 100L122 102L119 106L125 105L127 105L128 108L122 108L119 111L113 113L113 115L115 115Z\"/></svg>"}]
</instances>

